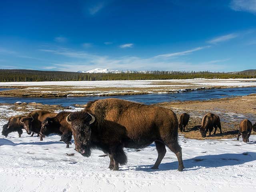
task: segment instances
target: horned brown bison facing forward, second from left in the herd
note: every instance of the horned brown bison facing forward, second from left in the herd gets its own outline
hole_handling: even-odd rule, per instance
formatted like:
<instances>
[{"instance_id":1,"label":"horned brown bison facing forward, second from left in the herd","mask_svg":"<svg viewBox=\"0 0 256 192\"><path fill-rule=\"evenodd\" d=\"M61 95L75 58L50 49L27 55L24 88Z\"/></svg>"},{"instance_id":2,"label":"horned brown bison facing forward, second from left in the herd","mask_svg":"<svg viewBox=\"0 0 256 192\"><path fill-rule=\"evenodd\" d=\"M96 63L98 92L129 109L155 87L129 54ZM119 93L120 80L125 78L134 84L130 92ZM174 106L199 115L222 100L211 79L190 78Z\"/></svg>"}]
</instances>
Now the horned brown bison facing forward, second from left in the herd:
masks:
<instances>
[{"instance_id":1,"label":"horned brown bison facing forward, second from left in the herd","mask_svg":"<svg viewBox=\"0 0 256 192\"><path fill-rule=\"evenodd\" d=\"M20 122L24 125L24 129L30 135L31 132L35 132L40 134L42 121L44 121L47 117L54 117L56 113L44 111L44 110L34 110L30 112L27 116L22 117ZM40 135L40 141L43 140L43 136Z\"/></svg>"}]
</instances>

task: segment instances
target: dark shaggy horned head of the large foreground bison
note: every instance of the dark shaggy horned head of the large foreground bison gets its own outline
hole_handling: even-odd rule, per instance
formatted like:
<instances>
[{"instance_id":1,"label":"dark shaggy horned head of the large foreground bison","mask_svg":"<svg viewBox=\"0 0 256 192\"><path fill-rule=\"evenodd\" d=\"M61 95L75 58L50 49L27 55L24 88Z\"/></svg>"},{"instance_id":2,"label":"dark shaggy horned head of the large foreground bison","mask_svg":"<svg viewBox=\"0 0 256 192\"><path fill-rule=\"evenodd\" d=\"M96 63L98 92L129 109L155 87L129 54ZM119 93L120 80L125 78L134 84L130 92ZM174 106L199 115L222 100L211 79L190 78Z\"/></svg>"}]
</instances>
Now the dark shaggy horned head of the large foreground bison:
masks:
<instances>
[{"instance_id":1,"label":"dark shaggy horned head of the large foreground bison","mask_svg":"<svg viewBox=\"0 0 256 192\"><path fill-rule=\"evenodd\" d=\"M91 155L91 128L90 124L95 121L95 117L88 112L73 112L66 117L66 121L71 125L71 130L75 141L75 150L82 156Z\"/></svg>"}]
</instances>

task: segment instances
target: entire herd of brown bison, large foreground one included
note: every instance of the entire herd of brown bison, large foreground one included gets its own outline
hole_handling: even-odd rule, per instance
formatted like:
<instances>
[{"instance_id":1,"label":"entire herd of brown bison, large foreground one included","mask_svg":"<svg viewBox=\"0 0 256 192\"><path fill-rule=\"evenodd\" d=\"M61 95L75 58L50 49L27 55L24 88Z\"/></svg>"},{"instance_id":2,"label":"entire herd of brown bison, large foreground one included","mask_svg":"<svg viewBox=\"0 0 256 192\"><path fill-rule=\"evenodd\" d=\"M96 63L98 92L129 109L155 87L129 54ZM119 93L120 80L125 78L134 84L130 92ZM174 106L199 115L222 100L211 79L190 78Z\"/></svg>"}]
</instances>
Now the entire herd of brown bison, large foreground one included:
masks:
<instances>
[{"instance_id":1,"label":"entire herd of brown bison, large foreground one included","mask_svg":"<svg viewBox=\"0 0 256 192\"><path fill-rule=\"evenodd\" d=\"M75 150L82 156L90 156L92 149L100 149L109 155L110 170L118 170L119 165L127 163L123 148L144 148L155 142L158 158L152 169L158 169L166 154L166 146L178 158L178 170L182 171L182 149L178 144L178 129L185 131L190 115L183 113L180 124L176 114L159 106L144 105L116 98L89 102L79 112L52 113L35 110L28 115L12 116L3 126L2 135L17 131L19 137L24 128L28 134L36 133L43 140L49 134L58 134L69 148L72 135ZM199 130L206 137L217 128L222 134L219 116L208 113L202 119ZM244 142L249 142L252 129L256 131L256 123L244 119L240 123L237 140L242 134Z\"/></svg>"}]
</instances>

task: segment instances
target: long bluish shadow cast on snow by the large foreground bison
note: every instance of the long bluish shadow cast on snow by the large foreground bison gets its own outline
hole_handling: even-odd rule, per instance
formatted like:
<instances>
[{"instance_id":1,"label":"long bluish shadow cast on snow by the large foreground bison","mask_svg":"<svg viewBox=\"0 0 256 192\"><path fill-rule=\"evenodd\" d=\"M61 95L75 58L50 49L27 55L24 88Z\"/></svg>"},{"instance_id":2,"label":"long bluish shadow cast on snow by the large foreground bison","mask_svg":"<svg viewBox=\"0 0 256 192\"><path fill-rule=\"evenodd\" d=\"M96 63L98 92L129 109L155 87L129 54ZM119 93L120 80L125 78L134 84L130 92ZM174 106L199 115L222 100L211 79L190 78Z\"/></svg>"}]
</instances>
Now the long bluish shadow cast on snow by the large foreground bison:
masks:
<instances>
[{"instance_id":1,"label":"long bluish shadow cast on snow by the large foreground bison","mask_svg":"<svg viewBox=\"0 0 256 192\"><path fill-rule=\"evenodd\" d=\"M225 153L219 155L198 156L183 160L183 163L185 166L184 171L190 171L198 170L200 167L212 168L240 165L254 160L256 160L256 152L244 152L242 154ZM152 166L153 165L128 166L128 169L146 172L176 170L178 168L178 161L161 163L157 170L150 169Z\"/></svg>"}]
</instances>

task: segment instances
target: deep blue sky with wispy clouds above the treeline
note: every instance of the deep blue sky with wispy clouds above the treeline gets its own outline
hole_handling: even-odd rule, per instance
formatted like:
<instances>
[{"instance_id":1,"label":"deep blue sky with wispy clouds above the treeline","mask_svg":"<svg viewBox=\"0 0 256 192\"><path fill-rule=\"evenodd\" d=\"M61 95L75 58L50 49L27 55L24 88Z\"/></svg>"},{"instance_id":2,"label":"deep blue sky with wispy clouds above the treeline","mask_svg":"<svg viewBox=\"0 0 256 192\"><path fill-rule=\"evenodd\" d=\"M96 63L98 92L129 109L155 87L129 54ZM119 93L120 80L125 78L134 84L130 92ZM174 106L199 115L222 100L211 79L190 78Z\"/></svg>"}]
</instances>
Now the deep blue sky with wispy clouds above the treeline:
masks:
<instances>
[{"instance_id":1,"label":"deep blue sky with wispy clouds above the treeline","mask_svg":"<svg viewBox=\"0 0 256 192\"><path fill-rule=\"evenodd\" d=\"M0 68L256 69L256 0L0 1Z\"/></svg>"}]
</instances>

